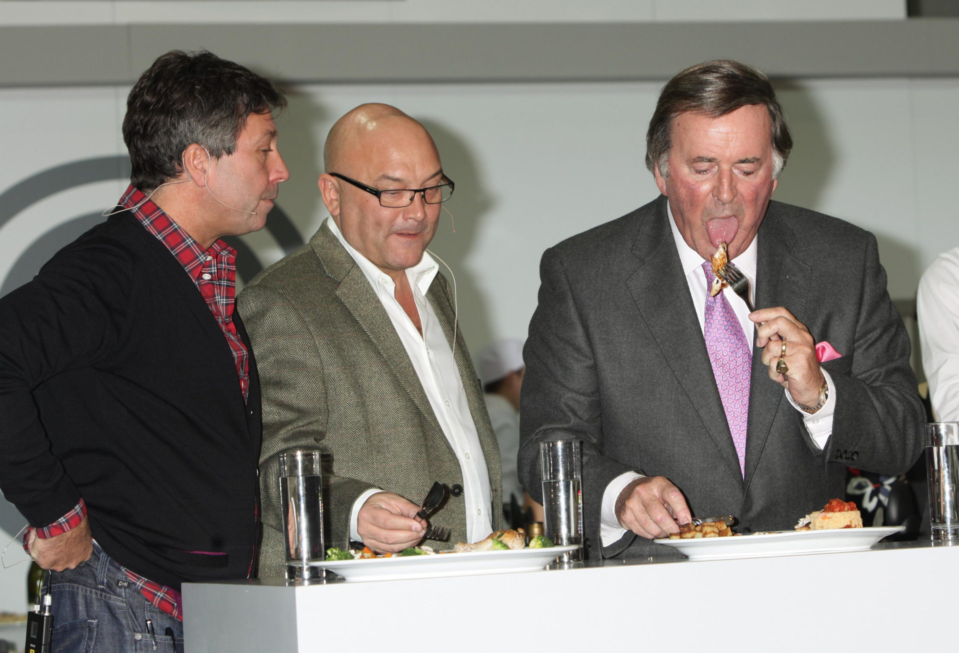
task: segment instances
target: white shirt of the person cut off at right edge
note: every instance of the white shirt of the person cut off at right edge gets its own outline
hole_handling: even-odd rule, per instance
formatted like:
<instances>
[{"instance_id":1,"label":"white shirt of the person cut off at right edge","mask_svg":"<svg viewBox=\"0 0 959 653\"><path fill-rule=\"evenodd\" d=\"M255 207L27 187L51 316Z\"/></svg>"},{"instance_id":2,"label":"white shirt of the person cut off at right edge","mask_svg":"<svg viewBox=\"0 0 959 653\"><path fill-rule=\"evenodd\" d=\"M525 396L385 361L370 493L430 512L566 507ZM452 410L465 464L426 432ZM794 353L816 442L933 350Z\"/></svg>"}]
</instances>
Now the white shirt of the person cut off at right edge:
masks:
<instances>
[{"instance_id":1,"label":"white shirt of the person cut off at right edge","mask_svg":"<svg viewBox=\"0 0 959 653\"><path fill-rule=\"evenodd\" d=\"M916 302L933 418L959 422L959 247L925 270Z\"/></svg>"}]
</instances>

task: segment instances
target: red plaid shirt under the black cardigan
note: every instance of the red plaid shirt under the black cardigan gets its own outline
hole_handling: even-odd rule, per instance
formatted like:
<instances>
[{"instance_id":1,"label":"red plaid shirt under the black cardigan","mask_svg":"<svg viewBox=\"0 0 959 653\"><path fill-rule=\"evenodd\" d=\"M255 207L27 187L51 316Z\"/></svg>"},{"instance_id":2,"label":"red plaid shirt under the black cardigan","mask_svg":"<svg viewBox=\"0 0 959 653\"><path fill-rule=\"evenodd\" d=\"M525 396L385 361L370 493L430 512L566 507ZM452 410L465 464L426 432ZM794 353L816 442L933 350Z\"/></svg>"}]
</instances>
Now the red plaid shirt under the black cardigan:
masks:
<instances>
[{"instance_id":1,"label":"red plaid shirt under the black cardigan","mask_svg":"<svg viewBox=\"0 0 959 653\"><path fill-rule=\"evenodd\" d=\"M233 323L236 296L236 250L222 241L217 241L209 249L203 250L182 227L163 212L163 209L133 186L127 188L127 192L120 199L120 205L129 208L144 228L166 245L197 284L200 294L206 300L206 305L216 317L223 336L230 345L233 361L237 366L237 375L240 378L240 389L246 401L249 394L249 353ZM86 504L81 499L73 510L53 524L36 529L28 528L23 535L23 548L28 554L30 553L27 542L32 530L35 530L36 537L41 540L47 539L79 525L84 517L86 517ZM182 599L179 592L154 583L126 568L124 571L148 601L168 615L182 620Z\"/></svg>"}]
</instances>

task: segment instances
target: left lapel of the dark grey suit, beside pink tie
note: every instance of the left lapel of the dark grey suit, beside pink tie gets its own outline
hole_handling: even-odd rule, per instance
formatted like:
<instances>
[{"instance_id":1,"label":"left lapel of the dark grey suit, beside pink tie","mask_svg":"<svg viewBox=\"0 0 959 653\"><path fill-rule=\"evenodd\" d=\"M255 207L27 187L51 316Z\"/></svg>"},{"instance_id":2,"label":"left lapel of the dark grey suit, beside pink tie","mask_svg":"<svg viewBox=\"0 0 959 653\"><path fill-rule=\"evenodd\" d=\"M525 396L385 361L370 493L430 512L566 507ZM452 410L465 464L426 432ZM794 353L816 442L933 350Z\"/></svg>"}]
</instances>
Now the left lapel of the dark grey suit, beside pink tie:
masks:
<instances>
[{"instance_id":1,"label":"left lapel of the dark grey suit, beside pink tie","mask_svg":"<svg viewBox=\"0 0 959 653\"><path fill-rule=\"evenodd\" d=\"M690 287L667 222L666 202L665 197L659 198L654 211L645 215L633 246L640 268L626 285L713 444L729 470L741 480L736 446L719 399Z\"/></svg>"}]
</instances>

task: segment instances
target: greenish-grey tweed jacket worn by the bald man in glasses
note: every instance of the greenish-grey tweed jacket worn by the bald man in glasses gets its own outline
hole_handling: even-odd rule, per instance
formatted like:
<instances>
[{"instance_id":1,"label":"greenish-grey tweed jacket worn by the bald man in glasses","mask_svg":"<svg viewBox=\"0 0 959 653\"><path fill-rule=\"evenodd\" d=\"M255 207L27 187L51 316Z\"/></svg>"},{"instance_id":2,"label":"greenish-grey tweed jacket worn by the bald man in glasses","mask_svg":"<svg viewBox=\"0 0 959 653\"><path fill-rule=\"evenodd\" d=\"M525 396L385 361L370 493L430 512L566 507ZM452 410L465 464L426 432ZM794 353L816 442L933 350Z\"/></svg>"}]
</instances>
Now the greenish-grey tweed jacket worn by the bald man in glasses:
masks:
<instances>
[{"instance_id":1,"label":"greenish-grey tweed jacket worn by the bald man in glasses","mask_svg":"<svg viewBox=\"0 0 959 653\"><path fill-rule=\"evenodd\" d=\"M427 297L452 343L453 297L441 274ZM308 245L258 274L237 307L263 397L261 576L282 575L285 565L278 452L318 448L332 458L332 474L324 479L328 547L347 546L350 510L367 489L420 501L434 480L462 486L456 455L383 304L329 229L321 226ZM503 521L500 452L458 332L456 364L486 456L497 528ZM432 522L452 529L451 546L465 542L462 493Z\"/></svg>"}]
</instances>

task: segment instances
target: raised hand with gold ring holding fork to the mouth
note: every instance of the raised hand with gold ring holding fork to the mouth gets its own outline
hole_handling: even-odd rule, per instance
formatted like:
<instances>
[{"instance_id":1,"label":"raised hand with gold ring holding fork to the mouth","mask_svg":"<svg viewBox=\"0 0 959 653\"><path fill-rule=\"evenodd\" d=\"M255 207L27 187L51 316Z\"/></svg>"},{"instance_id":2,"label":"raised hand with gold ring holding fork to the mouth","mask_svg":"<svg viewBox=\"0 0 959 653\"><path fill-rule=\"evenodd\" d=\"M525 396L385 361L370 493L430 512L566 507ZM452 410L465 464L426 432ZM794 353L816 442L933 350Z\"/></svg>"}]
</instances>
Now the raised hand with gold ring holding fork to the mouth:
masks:
<instances>
[{"instance_id":1,"label":"raised hand with gold ring holding fork to the mouth","mask_svg":"<svg viewBox=\"0 0 959 653\"><path fill-rule=\"evenodd\" d=\"M806 325L782 306L761 309L749 314L756 322L756 346L762 348L762 363L769 368L769 378L782 385L797 404L815 406L819 403L819 388L826 377L816 359L816 342ZM789 371L780 374L776 364L783 353Z\"/></svg>"}]
</instances>

